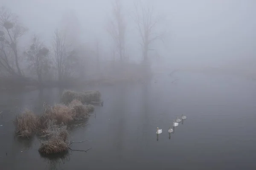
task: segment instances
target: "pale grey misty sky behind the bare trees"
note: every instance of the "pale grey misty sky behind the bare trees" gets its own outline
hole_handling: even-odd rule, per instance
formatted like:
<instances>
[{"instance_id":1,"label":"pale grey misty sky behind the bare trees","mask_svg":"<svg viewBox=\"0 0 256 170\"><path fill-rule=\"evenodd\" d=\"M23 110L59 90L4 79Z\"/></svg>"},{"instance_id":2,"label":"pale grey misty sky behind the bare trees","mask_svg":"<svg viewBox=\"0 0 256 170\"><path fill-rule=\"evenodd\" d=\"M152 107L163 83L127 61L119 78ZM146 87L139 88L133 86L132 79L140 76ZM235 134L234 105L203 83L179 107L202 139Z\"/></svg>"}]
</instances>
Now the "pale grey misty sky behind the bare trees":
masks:
<instances>
[{"instance_id":1,"label":"pale grey misty sky behind the bare trees","mask_svg":"<svg viewBox=\"0 0 256 170\"><path fill-rule=\"evenodd\" d=\"M111 16L111 0L0 0L20 16L29 33L39 34L48 45L54 29L66 11L75 11L81 24L79 40L93 47L98 39L102 51L111 51L106 31ZM132 0L123 0L127 14L127 49L131 59L141 57L139 37L131 18ZM165 44L158 43L155 60L171 64L221 65L242 63L256 56L255 0L145 0L166 16L157 29L166 30ZM154 55L159 54L160 58ZM157 59L156 59L157 58ZM242 61L242 62L241 62ZM250 61L250 60L249 60ZM254 59L253 61L256 61ZM168 63L166 62L166 63Z\"/></svg>"}]
</instances>

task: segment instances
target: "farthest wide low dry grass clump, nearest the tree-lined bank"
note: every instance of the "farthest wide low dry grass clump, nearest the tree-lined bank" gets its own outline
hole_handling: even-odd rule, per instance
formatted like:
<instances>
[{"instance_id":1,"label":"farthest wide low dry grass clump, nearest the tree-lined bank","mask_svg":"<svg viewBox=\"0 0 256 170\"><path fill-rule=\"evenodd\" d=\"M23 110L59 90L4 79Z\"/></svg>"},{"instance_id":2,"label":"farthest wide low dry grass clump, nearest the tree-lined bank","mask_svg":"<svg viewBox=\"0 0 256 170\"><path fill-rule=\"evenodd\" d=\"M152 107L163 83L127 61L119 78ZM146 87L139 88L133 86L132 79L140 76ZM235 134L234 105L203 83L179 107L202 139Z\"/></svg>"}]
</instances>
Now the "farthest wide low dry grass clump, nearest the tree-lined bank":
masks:
<instances>
[{"instance_id":1,"label":"farthest wide low dry grass clump, nearest the tree-lined bank","mask_svg":"<svg viewBox=\"0 0 256 170\"><path fill-rule=\"evenodd\" d=\"M78 99L80 102L89 103L90 101L98 101L101 97L99 91L84 91L77 93L76 91L65 90L62 94L61 100L64 104L69 104L74 99Z\"/></svg>"}]
</instances>

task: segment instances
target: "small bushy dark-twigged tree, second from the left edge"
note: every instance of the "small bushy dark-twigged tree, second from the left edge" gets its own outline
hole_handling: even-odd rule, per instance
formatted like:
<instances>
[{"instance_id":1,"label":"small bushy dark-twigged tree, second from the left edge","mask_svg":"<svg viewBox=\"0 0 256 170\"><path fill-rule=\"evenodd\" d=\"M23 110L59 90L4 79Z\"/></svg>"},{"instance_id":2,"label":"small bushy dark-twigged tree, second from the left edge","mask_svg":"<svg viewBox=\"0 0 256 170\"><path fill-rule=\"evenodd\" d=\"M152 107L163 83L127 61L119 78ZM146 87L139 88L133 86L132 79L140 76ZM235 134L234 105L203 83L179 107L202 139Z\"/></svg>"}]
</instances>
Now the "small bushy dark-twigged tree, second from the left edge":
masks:
<instances>
[{"instance_id":1,"label":"small bushy dark-twigged tree, second from the left edge","mask_svg":"<svg viewBox=\"0 0 256 170\"><path fill-rule=\"evenodd\" d=\"M29 67L35 70L38 81L41 83L43 71L49 68L49 49L44 47L39 37L35 35L32 39L32 45L30 45L29 50L25 51L24 54L26 54L28 59Z\"/></svg>"}]
</instances>

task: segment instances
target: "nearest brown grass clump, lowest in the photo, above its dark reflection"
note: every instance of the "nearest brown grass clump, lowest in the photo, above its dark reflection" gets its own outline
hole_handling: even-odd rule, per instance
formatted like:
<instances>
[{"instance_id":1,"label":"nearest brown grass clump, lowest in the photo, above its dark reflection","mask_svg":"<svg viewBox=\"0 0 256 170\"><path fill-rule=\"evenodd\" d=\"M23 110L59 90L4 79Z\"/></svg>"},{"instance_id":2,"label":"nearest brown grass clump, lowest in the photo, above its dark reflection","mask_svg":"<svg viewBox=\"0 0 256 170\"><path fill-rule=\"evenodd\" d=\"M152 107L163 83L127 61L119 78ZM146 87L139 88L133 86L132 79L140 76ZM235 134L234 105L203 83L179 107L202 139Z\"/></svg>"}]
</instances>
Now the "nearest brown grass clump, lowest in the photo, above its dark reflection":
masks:
<instances>
[{"instance_id":1,"label":"nearest brown grass clump, lowest in the photo, above its dark reflection","mask_svg":"<svg viewBox=\"0 0 256 170\"><path fill-rule=\"evenodd\" d=\"M49 139L41 143L38 149L41 154L61 153L68 150L67 126L63 124L54 125L49 127L46 132L48 133Z\"/></svg>"}]
</instances>

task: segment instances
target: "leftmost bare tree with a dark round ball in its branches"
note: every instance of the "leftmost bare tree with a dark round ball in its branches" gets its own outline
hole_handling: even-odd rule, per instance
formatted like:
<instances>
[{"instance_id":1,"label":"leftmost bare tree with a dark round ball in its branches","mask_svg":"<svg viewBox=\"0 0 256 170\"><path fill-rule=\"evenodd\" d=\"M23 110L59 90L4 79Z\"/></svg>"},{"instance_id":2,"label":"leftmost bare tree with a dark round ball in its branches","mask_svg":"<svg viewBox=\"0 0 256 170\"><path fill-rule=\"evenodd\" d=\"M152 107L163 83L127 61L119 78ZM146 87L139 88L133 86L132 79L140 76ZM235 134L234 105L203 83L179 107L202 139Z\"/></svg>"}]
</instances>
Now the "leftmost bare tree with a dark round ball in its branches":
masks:
<instances>
[{"instance_id":1,"label":"leftmost bare tree with a dark round ball in its branches","mask_svg":"<svg viewBox=\"0 0 256 170\"><path fill-rule=\"evenodd\" d=\"M10 67L10 55L15 57L15 65L17 68L17 74L22 75L19 66L19 56L17 52L18 39L23 36L27 29L20 25L17 20L17 15L13 14L8 9L1 7L0 9L0 30L1 30L1 59L0 64L6 67L6 70L15 74L15 70ZM7 53L8 49L11 49L12 53Z\"/></svg>"}]
</instances>

